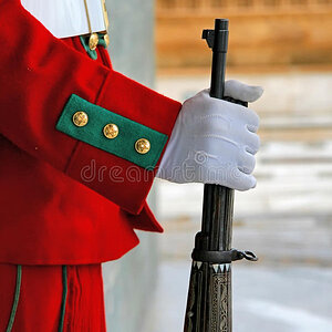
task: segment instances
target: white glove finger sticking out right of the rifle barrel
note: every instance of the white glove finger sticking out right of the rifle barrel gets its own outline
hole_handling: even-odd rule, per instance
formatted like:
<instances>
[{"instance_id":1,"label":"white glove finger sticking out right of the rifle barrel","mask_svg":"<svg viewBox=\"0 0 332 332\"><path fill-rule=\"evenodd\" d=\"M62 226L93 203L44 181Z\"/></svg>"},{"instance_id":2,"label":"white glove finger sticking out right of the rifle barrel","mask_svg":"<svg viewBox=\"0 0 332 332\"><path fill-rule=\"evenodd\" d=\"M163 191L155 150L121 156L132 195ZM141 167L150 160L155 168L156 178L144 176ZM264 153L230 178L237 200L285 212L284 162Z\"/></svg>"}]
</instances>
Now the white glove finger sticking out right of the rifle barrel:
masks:
<instances>
[{"instance_id":1,"label":"white glove finger sticking out right of the rifle barrel","mask_svg":"<svg viewBox=\"0 0 332 332\"><path fill-rule=\"evenodd\" d=\"M253 103L261 97L263 89L261 86L247 85L236 80L225 82L225 96L238 101Z\"/></svg>"}]
</instances>

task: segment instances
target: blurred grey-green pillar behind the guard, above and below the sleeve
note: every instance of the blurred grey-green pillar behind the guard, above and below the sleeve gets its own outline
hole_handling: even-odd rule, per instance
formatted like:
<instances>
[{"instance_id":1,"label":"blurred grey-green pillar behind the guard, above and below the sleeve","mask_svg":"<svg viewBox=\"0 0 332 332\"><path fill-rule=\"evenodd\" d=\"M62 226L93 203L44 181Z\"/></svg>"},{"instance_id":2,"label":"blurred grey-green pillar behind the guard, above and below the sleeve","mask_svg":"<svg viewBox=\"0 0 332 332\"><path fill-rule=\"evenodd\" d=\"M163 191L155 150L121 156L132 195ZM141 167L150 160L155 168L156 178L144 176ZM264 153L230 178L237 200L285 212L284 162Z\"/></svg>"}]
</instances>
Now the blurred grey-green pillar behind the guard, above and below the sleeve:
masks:
<instances>
[{"instance_id":1,"label":"blurred grey-green pillar behind the guard, above and below the sleeve","mask_svg":"<svg viewBox=\"0 0 332 332\"><path fill-rule=\"evenodd\" d=\"M154 83L153 0L106 0L114 69L145 85ZM112 222L112 216L110 216ZM107 331L139 332L156 281L156 240L139 232L141 245L104 264Z\"/></svg>"}]
</instances>

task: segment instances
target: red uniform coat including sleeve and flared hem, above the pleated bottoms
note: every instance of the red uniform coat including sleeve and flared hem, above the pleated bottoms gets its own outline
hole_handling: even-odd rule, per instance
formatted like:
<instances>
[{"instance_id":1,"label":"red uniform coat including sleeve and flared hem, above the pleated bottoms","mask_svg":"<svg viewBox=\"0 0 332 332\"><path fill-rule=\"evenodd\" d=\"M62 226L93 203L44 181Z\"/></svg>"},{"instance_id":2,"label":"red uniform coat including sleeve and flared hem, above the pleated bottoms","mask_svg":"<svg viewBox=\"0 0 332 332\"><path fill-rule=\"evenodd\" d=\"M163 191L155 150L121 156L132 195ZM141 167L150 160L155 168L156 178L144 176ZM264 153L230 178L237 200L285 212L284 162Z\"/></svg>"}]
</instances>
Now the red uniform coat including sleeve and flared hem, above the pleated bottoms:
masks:
<instances>
[{"instance_id":1,"label":"red uniform coat including sleeve and flared hem, above the pleated bottoms","mask_svg":"<svg viewBox=\"0 0 332 332\"><path fill-rule=\"evenodd\" d=\"M134 228L162 231L145 200L155 170L133 180L133 163L55 126L75 94L169 137L180 104L115 72L105 50L93 61L79 38L55 39L19 0L0 0L0 262L97 263L136 246ZM113 166L122 180L97 176Z\"/></svg>"}]
</instances>

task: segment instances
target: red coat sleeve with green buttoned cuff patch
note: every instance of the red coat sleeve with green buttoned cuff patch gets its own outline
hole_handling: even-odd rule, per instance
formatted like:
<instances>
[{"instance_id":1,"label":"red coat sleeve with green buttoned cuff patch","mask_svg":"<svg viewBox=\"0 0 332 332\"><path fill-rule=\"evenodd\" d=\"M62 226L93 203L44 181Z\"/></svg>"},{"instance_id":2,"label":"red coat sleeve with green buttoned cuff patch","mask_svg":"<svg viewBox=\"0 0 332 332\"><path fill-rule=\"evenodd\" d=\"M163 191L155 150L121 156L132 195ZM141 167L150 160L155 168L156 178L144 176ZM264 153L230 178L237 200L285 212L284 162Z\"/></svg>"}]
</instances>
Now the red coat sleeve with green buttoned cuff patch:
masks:
<instances>
[{"instance_id":1,"label":"red coat sleeve with green buttoned cuff patch","mask_svg":"<svg viewBox=\"0 0 332 332\"><path fill-rule=\"evenodd\" d=\"M71 50L19 0L0 0L0 133L35 158L138 214L155 170L133 167L126 159L74 139L56 131L56 122L75 94L169 137L180 104ZM104 169L102 179L82 176L93 164L96 172ZM111 174L115 168L116 177Z\"/></svg>"}]
</instances>

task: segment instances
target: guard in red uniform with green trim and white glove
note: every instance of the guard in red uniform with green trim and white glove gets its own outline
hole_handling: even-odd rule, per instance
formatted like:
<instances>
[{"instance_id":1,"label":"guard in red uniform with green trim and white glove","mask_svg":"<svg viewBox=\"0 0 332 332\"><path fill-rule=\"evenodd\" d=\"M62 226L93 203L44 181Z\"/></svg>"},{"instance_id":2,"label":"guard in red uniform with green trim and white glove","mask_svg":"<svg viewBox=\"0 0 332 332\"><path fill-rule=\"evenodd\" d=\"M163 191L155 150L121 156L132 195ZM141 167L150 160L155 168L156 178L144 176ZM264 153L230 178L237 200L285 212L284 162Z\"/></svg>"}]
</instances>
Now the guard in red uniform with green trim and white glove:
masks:
<instances>
[{"instance_id":1,"label":"guard in red uniform with green trim and white glove","mask_svg":"<svg viewBox=\"0 0 332 332\"><path fill-rule=\"evenodd\" d=\"M255 187L258 116L114 71L102 1L0 0L0 331L105 331L101 263L162 231L154 177Z\"/></svg>"}]
</instances>

